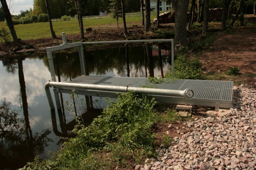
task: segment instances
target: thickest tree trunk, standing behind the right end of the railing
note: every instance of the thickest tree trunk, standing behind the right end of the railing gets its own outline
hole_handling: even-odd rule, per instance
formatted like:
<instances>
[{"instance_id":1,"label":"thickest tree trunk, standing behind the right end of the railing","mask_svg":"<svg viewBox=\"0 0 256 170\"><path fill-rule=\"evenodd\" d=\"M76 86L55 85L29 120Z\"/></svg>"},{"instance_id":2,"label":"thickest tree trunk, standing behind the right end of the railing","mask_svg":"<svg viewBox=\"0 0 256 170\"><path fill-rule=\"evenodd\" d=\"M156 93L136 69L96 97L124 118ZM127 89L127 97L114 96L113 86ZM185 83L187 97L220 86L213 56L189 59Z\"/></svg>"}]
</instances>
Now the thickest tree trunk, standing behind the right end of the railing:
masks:
<instances>
[{"instance_id":1,"label":"thickest tree trunk, standing behind the right end of the railing","mask_svg":"<svg viewBox=\"0 0 256 170\"><path fill-rule=\"evenodd\" d=\"M175 36L174 45L188 45L186 24L189 0L172 0L175 12Z\"/></svg>"}]
</instances>

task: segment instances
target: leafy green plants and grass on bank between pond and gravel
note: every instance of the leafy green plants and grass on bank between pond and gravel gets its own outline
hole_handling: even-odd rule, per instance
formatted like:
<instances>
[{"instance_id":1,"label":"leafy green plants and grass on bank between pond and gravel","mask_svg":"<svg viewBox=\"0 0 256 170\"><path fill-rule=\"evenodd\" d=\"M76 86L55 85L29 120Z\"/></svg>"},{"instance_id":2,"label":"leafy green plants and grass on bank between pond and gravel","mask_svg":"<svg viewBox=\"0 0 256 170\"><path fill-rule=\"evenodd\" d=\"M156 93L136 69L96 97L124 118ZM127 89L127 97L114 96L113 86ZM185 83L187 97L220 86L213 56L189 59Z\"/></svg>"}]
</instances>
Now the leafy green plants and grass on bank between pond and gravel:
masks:
<instances>
[{"instance_id":1,"label":"leafy green plants and grass on bank between pond and gravel","mask_svg":"<svg viewBox=\"0 0 256 170\"><path fill-rule=\"evenodd\" d=\"M78 124L77 136L65 142L52 160L36 160L21 169L114 169L139 164L153 156L155 104L146 95L121 94L90 126Z\"/></svg>"}]
</instances>

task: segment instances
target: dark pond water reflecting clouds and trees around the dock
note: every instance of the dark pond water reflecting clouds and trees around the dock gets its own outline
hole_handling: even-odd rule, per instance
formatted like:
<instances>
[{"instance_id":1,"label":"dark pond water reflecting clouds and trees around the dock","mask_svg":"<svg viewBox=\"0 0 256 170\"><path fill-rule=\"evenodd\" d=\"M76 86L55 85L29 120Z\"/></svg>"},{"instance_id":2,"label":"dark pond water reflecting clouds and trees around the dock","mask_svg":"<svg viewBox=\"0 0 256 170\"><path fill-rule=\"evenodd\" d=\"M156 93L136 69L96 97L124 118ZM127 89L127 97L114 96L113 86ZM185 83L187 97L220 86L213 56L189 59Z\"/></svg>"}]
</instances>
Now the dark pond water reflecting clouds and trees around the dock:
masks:
<instances>
[{"instance_id":1,"label":"dark pond water reflecting clouds and trees around the dock","mask_svg":"<svg viewBox=\"0 0 256 170\"><path fill-rule=\"evenodd\" d=\"M169 51L156 45L126 45L84 53L86 75L163 77L170 61ZM54 53L58 81L81 75L78 52L67 56L70 69L66 52ZM68 111L66 101L73 100L61 94L62 111L51 112L44 91L44 84L51 79L46 53L2 61L0 73L0 169L23 167L37 155L40 159L48 158L48 152L60 149L63 137L72 135L76 115L86 113L84 119L89 124L108 105L104 98L83 96L86 101L82 113L78 109Z\"/></svg>"}]
</instances>

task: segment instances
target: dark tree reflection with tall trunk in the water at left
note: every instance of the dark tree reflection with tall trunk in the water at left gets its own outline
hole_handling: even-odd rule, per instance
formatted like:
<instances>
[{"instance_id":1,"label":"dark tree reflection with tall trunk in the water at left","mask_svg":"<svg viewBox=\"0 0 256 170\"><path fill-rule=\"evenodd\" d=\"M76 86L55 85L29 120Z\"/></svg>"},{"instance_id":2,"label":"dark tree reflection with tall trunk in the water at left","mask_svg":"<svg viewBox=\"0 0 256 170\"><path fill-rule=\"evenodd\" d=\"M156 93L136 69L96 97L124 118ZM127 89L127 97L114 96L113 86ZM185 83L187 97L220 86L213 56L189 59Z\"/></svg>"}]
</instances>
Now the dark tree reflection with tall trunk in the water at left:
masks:
<instances>
[{"instance_id":1,"label":"dark tree reflection with tall trunk in the water at left","mask_svg":"<svg viewBox=\"0 0 256 170\"><path fill-rule=\"evenodd\" d=\"M17 60L4 63L6 70L15 73ZM28 102L26 96L26 84L24 79L22 59L18 59L18 75L20 84L20 103L23 109L24 119L20 118L18 111L11 109L11 102L2 100L0 105L0 169L17 169L34 160L34 157L44 152L48 142L50 130L41 133L32 133Z\"/></svg>"}]
</instances>

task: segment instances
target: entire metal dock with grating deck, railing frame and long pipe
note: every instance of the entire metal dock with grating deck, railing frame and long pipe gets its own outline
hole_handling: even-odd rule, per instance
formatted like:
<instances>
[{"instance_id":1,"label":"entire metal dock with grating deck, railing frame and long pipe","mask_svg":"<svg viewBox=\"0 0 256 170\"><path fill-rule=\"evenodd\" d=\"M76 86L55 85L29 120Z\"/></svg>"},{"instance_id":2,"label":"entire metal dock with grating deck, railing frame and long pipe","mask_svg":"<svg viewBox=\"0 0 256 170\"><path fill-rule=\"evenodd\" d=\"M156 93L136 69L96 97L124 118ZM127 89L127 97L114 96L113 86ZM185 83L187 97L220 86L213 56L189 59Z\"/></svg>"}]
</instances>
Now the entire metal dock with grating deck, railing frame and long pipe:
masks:
<instances>
[{"instance_id":1,"label":"entire metal dock with grating deck, railing frame and long pipe","mask_svg":"<svg viewBox=\"0 0 256 170\"><path fill-rule=\"evenodd\" d=\"M184 105L201 105L219 108L232 107L233 81L210 81L210 80L184 80L184 79L163 79L163 81L152 83L148 78L137 77L108 77L89 76L85 74L85 61L82 42L66 43L63 36L63 44L46 49L52 81L46 82L45 90L50 104L54 109L49 87L54 87L54 95L57 108L60 109L59 93L72 93L76 89L78 94L98 97L117 97L117 93L126 91L137 91L146 93L164 103L176 103ZM128 40L122 42L142 42L143 40ZM145 40L146 42L171 42L172 43L172 71L174 66L173 40ZM120 42L120 41L116 41ZM86 44L95 43L87 42ZM109 42L97 42L109 43ZM112 42L115 43L115 42ZM72 81L56 82L52 51L78 47L82 76ZM172 77L173 77L172 72ZM113 88L112 88L113 87ZM115 88L114 88L115 87ZM189 93L190 94L189 94Z\"/></svg>"}]
</instances>

